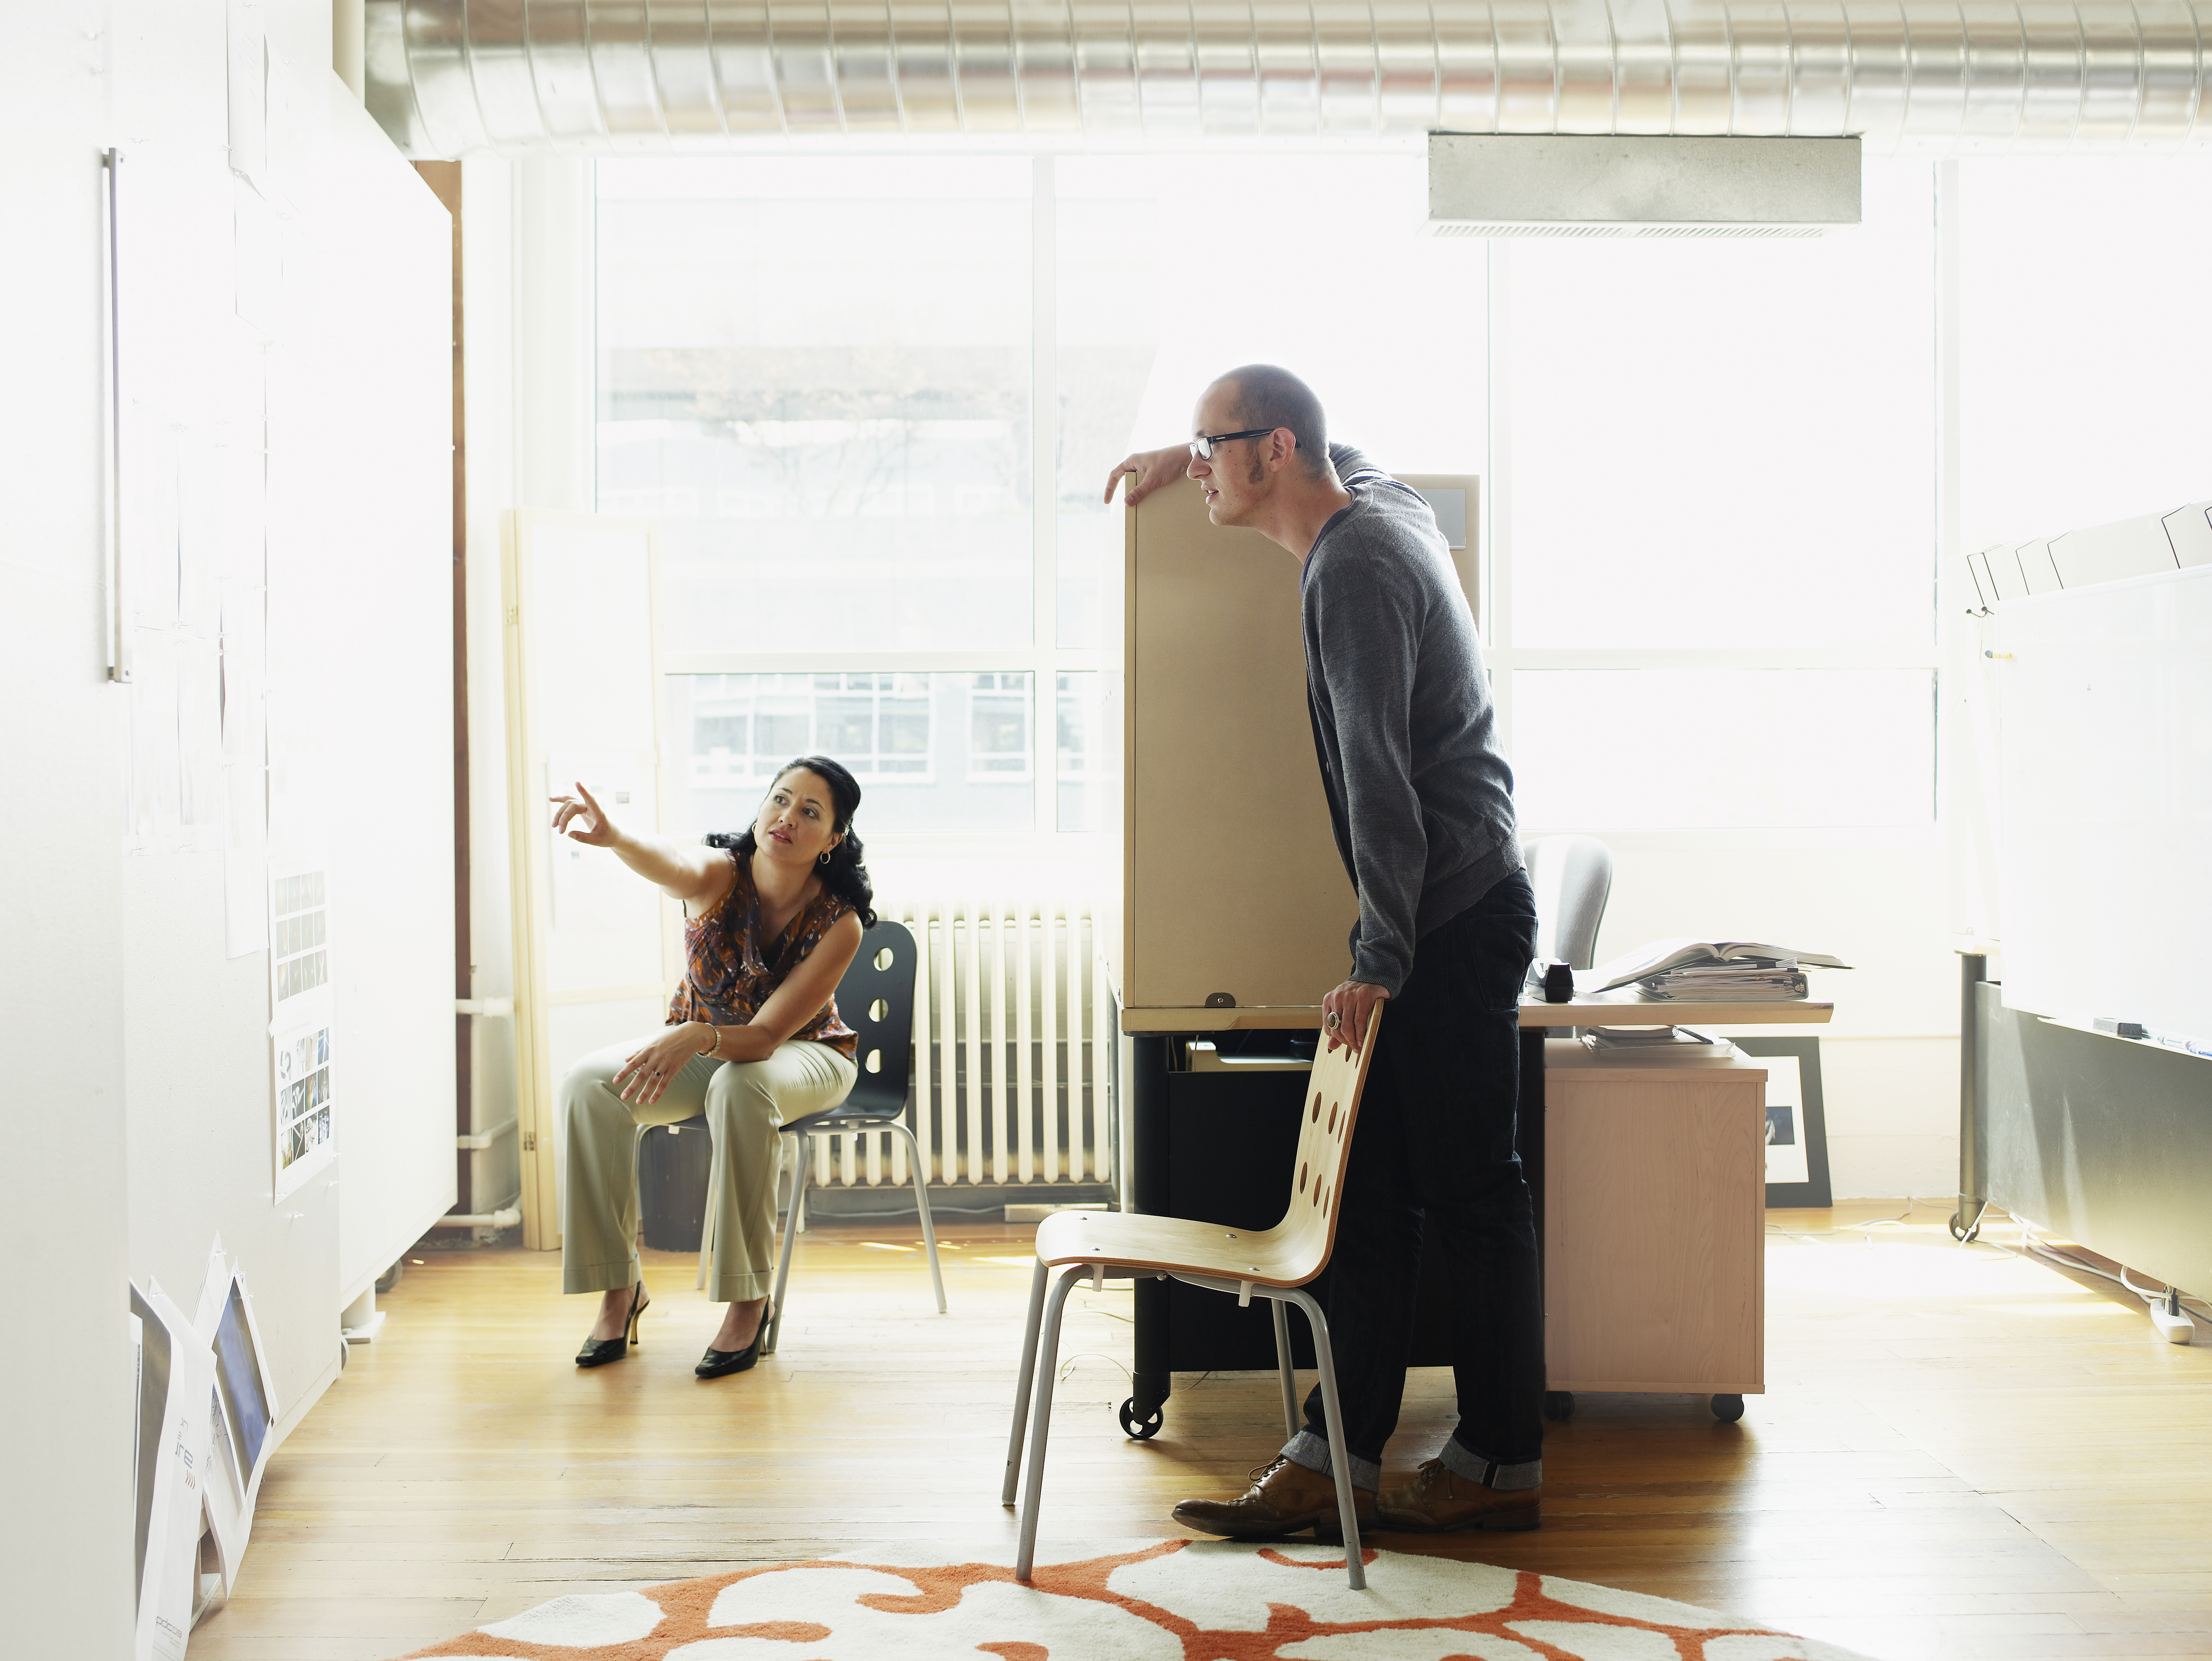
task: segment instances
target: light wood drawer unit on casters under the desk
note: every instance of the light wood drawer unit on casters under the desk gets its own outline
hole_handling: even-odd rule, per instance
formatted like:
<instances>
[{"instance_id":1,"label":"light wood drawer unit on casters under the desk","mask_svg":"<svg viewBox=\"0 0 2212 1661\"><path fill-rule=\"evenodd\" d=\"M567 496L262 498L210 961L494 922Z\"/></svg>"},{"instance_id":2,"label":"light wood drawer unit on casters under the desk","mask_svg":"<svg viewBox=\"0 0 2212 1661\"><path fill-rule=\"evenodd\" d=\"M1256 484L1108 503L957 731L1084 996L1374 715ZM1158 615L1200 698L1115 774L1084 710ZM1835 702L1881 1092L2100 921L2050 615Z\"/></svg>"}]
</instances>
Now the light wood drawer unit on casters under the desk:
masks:
<instances>
[{"instance_id":1,"label":"light wood drawer unit on casters under the desk","mask_svg":"<svg viewBox=\"0 0 2212 1661\"><path fill-rule=\"evenodd\" d=\"M1765 1068L1544 1062L1548 1387L1763 1391Z\"/></svg>"}]
</instances>

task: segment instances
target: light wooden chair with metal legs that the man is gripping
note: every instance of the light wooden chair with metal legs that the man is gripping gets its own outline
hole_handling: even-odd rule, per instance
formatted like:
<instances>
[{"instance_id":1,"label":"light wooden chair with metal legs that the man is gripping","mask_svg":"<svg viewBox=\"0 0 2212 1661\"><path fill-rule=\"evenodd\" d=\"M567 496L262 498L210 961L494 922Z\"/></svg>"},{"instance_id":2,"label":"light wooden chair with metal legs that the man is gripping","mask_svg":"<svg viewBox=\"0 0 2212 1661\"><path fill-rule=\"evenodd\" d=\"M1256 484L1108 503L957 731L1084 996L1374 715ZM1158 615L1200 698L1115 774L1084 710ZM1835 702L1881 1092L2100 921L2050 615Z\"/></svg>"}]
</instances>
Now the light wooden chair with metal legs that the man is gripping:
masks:
<instances>
[{"instance_id":1,"label":"light wooden chair with metal legs that the man is gripping","mask_svg":"<svg viewBox=\"0 0 2212 1661\"><path fill-rule=\"evenodd\" d=\"M1338 1197L1352 1157L1352 1124L1358 1119L1367 1064L1374 1057L1383 1006L1367 1022L1367 1042L1352 1051L1327 1051L1314 1059L1298 1119L1296 1174L1283 1221L1252 1234L1219 1223L1135 1212L1055 1212L1037 1225L1037 1270L1029 1285L1029 1325L1022 1334L1022 1376L1013 1396L1013 1433L1006 1438L1006 1484L1013 1504L1022 1466L1022 1435L1035 1400L1035 1440L1022 1491L1022 1546L1013 1577L1026 1581L1037 1553L1037 1502L1044 1491L1044 1440L1053 1418L1053 1373L1060 1365L1060 1314L1077 1281L1106 1285L1106 1270L1175 1276L1186 1285L1228 1292L1239 1307L1252 1298L1274 1305L1274 1358L1283 1376L1283 1427L1298 1433L1298 1389L1290 1367L1290 1318L1285 1305L1305 1312L1314 1329L1314 1360L1321 1367L1321 1407L1329 1429L1329 1469L1336 1471L1336 1513L1345 1531L1345 1575L1354 1590L1367 1586L1360 1568L1360 1528L1352 1515L1352 1469L1345 1458L1345 1420L1336 1402L1336 1362L1329 1354L1329 1320L1305 1285L1327 1265L1336 1247ZM1046 1296L1046 1278L1060 1270Z\"/></svg>"}]
</instances>

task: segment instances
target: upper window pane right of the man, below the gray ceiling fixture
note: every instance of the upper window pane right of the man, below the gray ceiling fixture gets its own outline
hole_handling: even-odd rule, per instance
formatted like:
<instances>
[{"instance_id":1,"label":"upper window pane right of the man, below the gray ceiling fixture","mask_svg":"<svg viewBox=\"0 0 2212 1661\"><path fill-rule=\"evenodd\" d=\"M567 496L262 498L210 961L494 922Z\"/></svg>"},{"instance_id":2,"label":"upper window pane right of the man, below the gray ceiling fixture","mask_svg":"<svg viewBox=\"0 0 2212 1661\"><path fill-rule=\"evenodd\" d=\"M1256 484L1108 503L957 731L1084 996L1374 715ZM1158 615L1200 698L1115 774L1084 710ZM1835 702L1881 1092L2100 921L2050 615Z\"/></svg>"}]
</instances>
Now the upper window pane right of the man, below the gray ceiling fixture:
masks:
<instances>
[{"instance_id":1,"label":"upper window pane right of the man, below the gray ceiling fixture","mask_svg":"<svg viewBox=\"0 0 2212 1661\"><path fill-rule=\"evenodd\" d=\"M1803 241L1515 241L1515 646L1922 644L1933 173Z\"/></svg>"}]
</instances>

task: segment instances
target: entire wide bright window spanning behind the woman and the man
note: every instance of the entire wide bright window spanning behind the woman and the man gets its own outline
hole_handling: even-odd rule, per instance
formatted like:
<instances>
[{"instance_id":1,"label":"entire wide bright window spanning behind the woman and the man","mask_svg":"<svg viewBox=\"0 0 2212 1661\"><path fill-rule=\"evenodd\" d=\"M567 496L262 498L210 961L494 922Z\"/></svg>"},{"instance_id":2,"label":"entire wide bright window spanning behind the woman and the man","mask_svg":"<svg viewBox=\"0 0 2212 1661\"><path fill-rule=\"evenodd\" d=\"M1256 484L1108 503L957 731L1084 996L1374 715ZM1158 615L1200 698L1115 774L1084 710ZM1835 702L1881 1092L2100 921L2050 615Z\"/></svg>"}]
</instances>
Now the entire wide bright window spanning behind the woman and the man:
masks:
<instances>
[{"instance_id":1,"label":"entire wide bright window spanning behind the woman and the man","mask_svg":"<svg viewBox=\"0 0 2212 1661\"><path fill-rule=\"evenodd\" d=\"M1931 816L1929 166L1809 241L1427 239L1416 150L597 179L597 500L664 526L679 829L805 750L869 832L1095 829L1106 469L1248 361L1383 467L1482 476L1531 829Z\"/></svg>"}]
</instances>

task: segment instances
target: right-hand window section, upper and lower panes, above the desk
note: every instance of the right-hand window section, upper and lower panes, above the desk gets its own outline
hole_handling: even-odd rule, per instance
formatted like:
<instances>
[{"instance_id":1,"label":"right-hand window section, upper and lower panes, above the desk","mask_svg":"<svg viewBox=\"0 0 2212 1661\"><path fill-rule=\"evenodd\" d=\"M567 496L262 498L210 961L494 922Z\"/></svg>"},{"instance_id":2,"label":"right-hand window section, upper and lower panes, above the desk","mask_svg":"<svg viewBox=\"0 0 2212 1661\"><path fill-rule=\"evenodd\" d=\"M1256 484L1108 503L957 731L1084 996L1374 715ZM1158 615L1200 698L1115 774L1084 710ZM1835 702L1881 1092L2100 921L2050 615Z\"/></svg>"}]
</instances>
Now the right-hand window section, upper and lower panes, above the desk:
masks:
<instances>
[{"instance_id":1,"label":"right-hand window section, upper and lower panes, above the desk","mask_svg":"<svg viewBox=\"0 0 2212 1661\"><path fill-rule=\"evenodd\" d=\"M1929 164L1869 161L1818 239L1495 246L1531 829L1933 821L1933 208Z\"/></svg>"}]
</instances>

